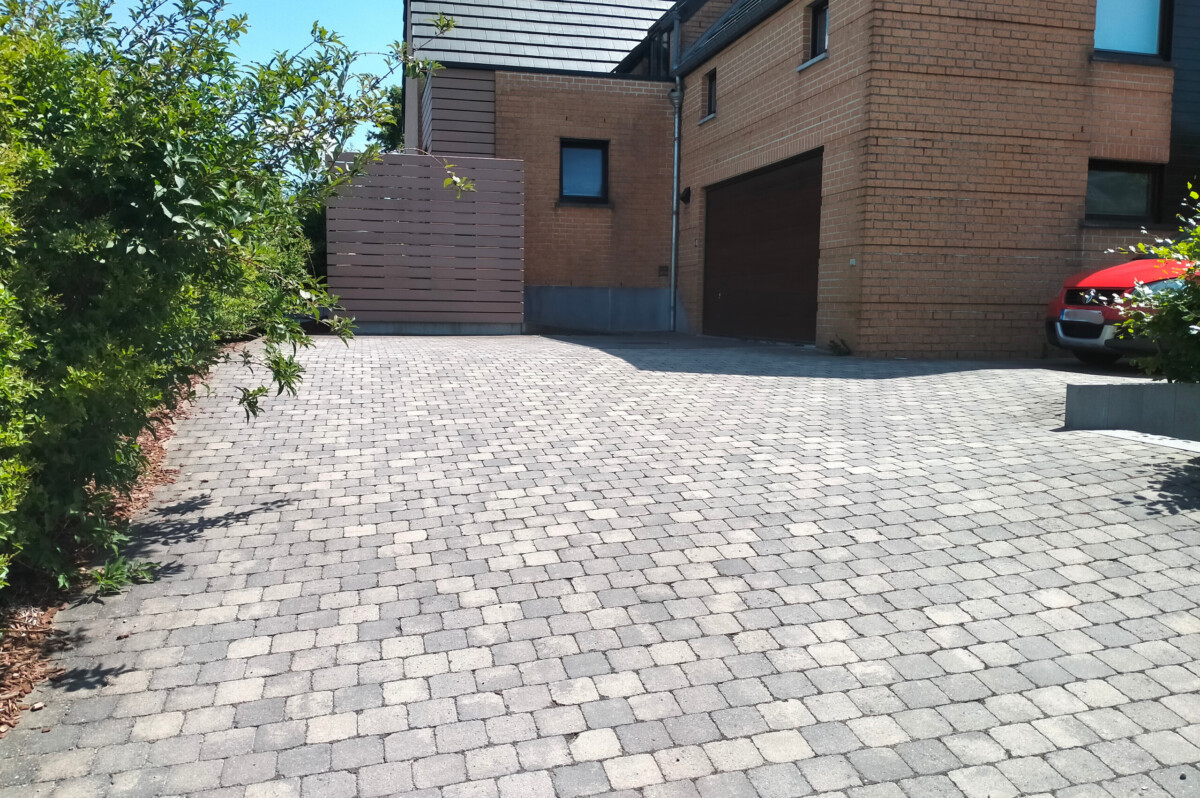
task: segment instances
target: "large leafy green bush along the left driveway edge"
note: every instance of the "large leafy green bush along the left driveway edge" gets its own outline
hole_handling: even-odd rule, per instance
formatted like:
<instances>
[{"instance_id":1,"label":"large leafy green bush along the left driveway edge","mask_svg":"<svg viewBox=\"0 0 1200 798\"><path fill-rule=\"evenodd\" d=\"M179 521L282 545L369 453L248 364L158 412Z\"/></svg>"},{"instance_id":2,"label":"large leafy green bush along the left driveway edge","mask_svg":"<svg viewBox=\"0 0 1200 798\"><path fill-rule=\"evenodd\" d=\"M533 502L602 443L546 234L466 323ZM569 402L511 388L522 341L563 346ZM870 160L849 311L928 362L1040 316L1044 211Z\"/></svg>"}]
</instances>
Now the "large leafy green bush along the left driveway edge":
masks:
<instances>
[{"instance_id":1,"label":"large leafy green bush along the left driveway edge","mask_svg":"<svg viewBox=\"0 0 1200 798\"><path fill-rule=\"evenodd\" d=\"M118 24L108 1L0 2L0 587L113 550L98 510L151 416L248 335L247 415L294 392L301 319L336 301L302 220L374 157L331 166L386 115L380 80L319 26L242 66L224 6L143 0Z\"/></svg>"}]
</instances>

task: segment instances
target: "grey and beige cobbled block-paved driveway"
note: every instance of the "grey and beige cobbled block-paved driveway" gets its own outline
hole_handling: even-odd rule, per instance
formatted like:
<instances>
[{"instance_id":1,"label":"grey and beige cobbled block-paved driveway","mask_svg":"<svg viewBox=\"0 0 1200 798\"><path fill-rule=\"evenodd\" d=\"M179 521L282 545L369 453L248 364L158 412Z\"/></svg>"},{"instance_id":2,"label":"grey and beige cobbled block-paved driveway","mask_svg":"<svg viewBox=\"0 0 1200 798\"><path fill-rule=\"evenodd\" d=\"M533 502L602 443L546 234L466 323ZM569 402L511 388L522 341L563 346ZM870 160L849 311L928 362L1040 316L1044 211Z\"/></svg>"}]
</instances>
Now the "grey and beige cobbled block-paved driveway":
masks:
<instances>
[{"instance_id":1,"label":"grey and beige cobbled block-paved driveway","mask_svg":"<svg viewBox=\"0 0 1200 798\"><path fill-rule=\"evenodd\" d=\"M1111 377L602 343L221 371L0 794L1200 796L1200 466L1056 431Z\"/></svg>"}]
</instances>

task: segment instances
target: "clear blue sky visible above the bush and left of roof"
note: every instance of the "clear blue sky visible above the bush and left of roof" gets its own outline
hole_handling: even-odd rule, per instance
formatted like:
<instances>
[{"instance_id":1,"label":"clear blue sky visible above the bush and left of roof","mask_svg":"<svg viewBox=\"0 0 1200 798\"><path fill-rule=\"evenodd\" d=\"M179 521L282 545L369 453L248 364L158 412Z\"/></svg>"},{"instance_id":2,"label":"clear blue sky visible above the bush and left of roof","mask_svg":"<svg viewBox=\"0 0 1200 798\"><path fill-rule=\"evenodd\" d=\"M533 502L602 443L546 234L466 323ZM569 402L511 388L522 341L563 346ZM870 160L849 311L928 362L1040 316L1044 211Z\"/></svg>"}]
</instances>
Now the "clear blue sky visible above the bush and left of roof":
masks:
<instances>
[{"instance_id":1,"label":"clear blue sky visible above the bush and left of roof","mask_svg":"<svg viewBox=\"0 0 1200 798\"><path fill-rule=\"evenodd\" d=\"M116 0L113 13L137 5L134 0ZM335 30L355 50L382 53L388 44L404 37L402 0L229 0L229 13L245 13L250 31L241 40L241 56L247 61L265 61L277 50L294 52L310 40L312 23ZM361 71L378 74L383 59L364 59ZM398 79L397 79L398 83ZM355 137L360 144L365 131Z\"/></svg>"}]
</instances>

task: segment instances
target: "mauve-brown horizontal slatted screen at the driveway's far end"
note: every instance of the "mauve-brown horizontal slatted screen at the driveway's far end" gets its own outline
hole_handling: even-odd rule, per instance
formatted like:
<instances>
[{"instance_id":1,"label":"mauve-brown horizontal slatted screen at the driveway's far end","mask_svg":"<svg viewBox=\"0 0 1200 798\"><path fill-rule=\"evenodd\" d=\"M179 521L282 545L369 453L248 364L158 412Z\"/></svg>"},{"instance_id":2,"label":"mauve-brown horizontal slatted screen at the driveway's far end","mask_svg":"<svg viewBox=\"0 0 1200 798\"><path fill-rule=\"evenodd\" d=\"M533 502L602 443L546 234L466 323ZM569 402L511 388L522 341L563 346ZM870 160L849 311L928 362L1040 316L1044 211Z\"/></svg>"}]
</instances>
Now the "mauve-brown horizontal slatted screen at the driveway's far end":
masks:
<instances>
[{"instance_id":1,"label":"mauve-brown horizontal slatted screen at the driveway's far end","mask_svg":"<svg viewBox=\"0 0 1200 798\"><path fill-rule=\"evenodd\" d=\"M360 322L509 324L524 318L524 164L385 155L330 198L329 288Z\"/></svg>"}]
</instances>

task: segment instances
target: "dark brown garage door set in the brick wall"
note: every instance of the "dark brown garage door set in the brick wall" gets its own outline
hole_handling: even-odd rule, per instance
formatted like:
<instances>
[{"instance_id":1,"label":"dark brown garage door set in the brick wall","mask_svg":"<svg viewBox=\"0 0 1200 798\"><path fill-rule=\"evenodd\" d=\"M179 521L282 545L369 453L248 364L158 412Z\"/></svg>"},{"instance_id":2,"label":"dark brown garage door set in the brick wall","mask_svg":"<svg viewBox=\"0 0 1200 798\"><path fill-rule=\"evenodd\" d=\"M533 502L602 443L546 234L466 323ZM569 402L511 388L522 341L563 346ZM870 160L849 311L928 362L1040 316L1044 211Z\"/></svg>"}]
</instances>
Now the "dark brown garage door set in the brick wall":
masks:
<instances>
[{"instance_id":1,"label":"dark brown garage door set in the brick wall","mask_svg":"<svg viewBox=\"0 0 1200 798\"><path fill-rule=\"evenodd\" d=\"M704 332L812 343L821 155L708 190Z\"/></svg>"}]
</instances>

